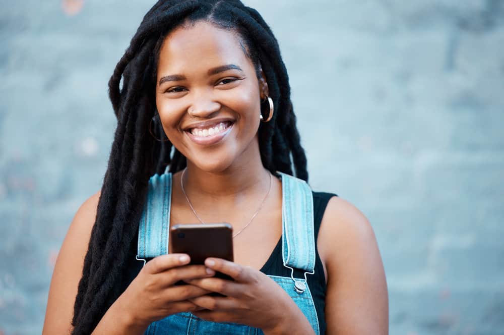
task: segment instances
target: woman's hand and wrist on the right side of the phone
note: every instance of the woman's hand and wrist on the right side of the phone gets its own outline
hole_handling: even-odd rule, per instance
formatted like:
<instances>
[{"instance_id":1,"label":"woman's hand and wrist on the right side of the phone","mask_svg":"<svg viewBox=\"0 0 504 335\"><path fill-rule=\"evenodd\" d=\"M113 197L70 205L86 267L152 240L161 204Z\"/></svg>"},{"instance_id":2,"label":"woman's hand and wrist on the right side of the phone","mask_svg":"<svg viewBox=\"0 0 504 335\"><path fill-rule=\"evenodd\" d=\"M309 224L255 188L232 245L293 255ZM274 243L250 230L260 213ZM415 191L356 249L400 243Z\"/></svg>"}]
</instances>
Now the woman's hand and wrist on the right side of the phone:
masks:
<instances>
[{"instance_id":1,"label":"woman's hand and wrist on the right side of the phone","mask_svg":"<svg viewBox=\"0 0 504 335\"><path fill-rule=\"evenodd\" d=\"M261 328L265 334L309 334L310 323L291 297L274 280L250 266L220 258L207 258L205 265L231 276L234 281L202 278L188 284L224 295L191 299L204 308L194 315L214 322L236 322Z\"/></svg>"}]
</instances>

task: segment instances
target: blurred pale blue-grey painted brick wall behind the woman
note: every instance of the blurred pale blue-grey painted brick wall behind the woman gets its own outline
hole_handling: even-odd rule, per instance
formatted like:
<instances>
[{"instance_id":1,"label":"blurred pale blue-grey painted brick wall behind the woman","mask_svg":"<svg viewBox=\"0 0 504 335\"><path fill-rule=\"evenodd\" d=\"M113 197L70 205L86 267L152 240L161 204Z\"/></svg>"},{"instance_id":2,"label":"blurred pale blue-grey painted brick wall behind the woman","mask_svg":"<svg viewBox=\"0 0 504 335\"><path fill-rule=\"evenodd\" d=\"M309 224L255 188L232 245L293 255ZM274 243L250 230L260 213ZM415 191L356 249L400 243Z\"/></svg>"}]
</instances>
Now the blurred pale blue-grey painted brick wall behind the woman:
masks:
<instances>
[{"instance_id":1,"label":"blurred pale blue-grey painted brick wall behind the woman","mask_svg":"<svg viewBox=\"0 0 504 335\"><path fill-rule=\"evenodd\" d=\"M391 334L504 334L504 2L246 3L280 41L312 187L375 230ZM41 331L105 172L108 78L151 4L2 3L0 334Z\"/></svg>"}]
</instances>

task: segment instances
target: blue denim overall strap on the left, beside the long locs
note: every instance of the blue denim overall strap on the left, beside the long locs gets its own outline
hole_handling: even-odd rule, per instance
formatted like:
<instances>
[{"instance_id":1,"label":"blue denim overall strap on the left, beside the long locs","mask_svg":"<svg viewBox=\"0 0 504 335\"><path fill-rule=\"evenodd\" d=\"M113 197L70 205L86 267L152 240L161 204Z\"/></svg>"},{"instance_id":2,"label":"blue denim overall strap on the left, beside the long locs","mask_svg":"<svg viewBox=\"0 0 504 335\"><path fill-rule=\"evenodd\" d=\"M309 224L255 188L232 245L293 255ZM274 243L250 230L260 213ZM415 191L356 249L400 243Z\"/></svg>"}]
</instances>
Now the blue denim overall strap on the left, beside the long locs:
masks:
<instances>
[{"instance_id":1,"label":"blue denim overall strap on the left, beside the long locs","mask_svg":"<svg viewBox=\"0 0 504 335\"><path fill-rule=\"evenodd\" d=\"M171 207L171 173L155 174L149 179L149 191L138 230L137 259L144 260L168 253L168 228Z\"/></svg>"}]
</instances>

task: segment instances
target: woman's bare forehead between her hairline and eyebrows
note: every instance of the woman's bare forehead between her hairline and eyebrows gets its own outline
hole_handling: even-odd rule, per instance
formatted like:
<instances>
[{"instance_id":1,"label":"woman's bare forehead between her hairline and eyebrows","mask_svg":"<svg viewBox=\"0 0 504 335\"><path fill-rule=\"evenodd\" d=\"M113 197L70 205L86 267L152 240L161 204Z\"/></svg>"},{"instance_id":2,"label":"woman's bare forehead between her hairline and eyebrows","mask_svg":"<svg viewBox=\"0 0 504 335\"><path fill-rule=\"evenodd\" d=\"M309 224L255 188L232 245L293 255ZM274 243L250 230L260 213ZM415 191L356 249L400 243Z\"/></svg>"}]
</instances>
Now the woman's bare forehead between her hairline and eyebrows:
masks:
<instances>
[{"instance_id":1,"label":"woman's bare forehead between her hairline and eyebrows","mask_svg":"<svg viewBox=\"0 0 504 335\"><path fill-rule=\"evenodd\" d=\"M225 64L253 67L235 32L200 21L166 36L159 52L158 74L206 71Z\"/></svg>"}]
</instances>

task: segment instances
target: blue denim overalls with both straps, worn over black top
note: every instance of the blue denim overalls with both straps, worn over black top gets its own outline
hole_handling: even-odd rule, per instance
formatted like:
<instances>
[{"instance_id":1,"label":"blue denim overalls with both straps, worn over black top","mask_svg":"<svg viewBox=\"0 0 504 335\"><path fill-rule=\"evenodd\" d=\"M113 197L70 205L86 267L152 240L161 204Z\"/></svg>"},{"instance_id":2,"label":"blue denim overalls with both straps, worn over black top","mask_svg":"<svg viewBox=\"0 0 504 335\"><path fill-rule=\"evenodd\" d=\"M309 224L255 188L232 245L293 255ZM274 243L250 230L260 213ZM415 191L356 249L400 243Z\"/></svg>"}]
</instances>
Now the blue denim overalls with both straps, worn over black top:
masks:
<instances>
[{"instance_id":1,"label":"blue denim overalls with both straps, worn over black top","mask_svg":"<svg viewBox=\"0 0 504 335\"><path fill-rule=\"evenodd\" d=\"M306 283L306 274L314 273L315 240L313 229L313 198L308 184L280 173L282 180L282 259L291 270L290 277L269 275L297 304L319 335L319 321ZM168 233L171 207L171 174L154 175L149 180L149 192L140 220L138 260L168 253ZM294 269L304 272L304 278L294 277ZM145 334L263 334L259 328L231 322L212 322L190 312L169 315L154 321Z\"/></svg>"}]
</instances>

